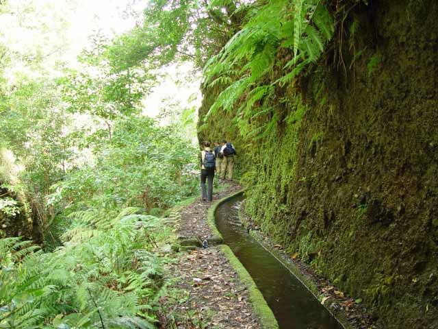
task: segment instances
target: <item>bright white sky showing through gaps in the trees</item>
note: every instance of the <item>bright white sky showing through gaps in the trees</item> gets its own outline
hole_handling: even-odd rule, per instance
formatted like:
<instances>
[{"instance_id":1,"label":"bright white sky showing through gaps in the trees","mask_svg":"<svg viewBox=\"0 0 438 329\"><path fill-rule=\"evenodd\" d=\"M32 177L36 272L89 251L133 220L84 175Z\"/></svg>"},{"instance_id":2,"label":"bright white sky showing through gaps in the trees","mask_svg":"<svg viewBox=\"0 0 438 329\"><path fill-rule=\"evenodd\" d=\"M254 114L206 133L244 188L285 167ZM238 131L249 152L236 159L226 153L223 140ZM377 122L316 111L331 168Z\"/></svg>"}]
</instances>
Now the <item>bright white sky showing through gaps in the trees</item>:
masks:
<instances>
[{"instance_id":1,"label":"bright white sky showing through gaps in the trees","mask_svg":"<svg viewBox=\"0 0 438 329\"><path fill-rule=\"evenodd\" d=\"M77 56L90 46L90 37L99 34L111 39L141 24L145 5L140 0L10 1L0 13L0 44L14 52L8 80L42 72L56 76L64 68L76 68ZM144 114L157 115L166 108L166 99L188 106L188 98L198 93L199 82L188 82L181 75L191 75L191 69L190 64L164 69L153 94L142 102Z\"/></svg>"}]
</instances>

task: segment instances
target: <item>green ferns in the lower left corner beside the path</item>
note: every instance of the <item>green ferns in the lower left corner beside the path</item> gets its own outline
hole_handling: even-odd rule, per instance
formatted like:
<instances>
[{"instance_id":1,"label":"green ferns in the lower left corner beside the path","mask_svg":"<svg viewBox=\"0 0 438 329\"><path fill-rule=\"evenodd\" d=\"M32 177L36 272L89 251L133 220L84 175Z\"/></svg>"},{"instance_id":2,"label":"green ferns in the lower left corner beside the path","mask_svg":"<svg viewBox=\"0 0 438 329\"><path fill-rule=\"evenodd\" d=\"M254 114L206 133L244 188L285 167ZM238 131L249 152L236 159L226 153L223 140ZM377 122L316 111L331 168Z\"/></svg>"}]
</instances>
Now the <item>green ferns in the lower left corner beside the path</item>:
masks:
<instances>
[{"instance_id":1,"label":"green ferns in the lower left corner beside the path","mask_svg":"<svg viewBox=\"0 0 438 329\"><path fill-rule=\"evenodd\" d=\"M162 265L151 236L163 223L132 212L73 215L64 245L49 254L1 239L1 328L155 328L148 303Z\"/></svg>"}]
</instances>

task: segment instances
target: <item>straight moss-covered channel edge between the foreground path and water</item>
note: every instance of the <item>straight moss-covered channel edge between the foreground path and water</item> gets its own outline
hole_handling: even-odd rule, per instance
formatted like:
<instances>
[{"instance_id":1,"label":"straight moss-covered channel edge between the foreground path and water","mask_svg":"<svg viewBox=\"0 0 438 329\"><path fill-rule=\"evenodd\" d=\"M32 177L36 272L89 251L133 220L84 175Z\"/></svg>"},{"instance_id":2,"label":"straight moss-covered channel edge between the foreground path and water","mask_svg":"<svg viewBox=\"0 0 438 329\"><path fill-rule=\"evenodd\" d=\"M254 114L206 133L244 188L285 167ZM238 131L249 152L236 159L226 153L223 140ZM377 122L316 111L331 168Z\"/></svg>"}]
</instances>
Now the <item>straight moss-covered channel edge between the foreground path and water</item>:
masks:
<instances>
[{"instance_id":1,"label":"straight moss-covered channel edge between the foreground path and water","mask_svg":"<svg viewBox=\"0 0 438 329\"><path fill-rule=\"evenodd\" d=\"M236 256L231 251L228 245L219 246L222 252L227 256L231 266L235 269L239 275L240 280L248 287L250 302L253 304L255 313L261 321L261 325L264 329L278 329L279 324L277 323L274 313L269 308L263 295L257 288L253 278L246 271L245 267L240 263Z\"/></svg>"}]
</instances>

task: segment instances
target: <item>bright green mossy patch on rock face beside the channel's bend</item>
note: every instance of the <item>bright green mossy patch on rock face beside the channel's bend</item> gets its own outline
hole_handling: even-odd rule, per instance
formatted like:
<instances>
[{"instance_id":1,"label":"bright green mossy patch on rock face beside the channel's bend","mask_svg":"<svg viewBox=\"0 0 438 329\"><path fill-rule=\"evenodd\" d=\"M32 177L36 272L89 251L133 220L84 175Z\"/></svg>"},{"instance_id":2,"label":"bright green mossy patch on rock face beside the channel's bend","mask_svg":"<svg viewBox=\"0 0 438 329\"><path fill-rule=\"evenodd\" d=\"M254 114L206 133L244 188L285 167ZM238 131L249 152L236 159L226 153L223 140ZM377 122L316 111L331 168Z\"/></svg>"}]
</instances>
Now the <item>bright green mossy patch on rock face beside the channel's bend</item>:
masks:
<instances>
[{"instance_id":1,"label":"bright green mossy patch on rock face beside the channel's bend","mask_svg":"<svg viewBox=\"0 0 438 329\"><path fill-rule=\"evenodd\" d=\"M289 106L292 107L292 115L294 112L306 111L300 97L296 97ZM246 201L246 210L263 230L272 232L279 239L290 239L282 228L285 223L280 221L286 221L290 215L289 202L292 197L287 186L296 180L301 122L289 120L284 126L282 138L279 138L276 129L271 130L258 147L254 147L249 153L252 170L246 173L245 181L251 186L252 193ZM279 199L283 202L279 203Z\"/></svg>"}]
</instances>

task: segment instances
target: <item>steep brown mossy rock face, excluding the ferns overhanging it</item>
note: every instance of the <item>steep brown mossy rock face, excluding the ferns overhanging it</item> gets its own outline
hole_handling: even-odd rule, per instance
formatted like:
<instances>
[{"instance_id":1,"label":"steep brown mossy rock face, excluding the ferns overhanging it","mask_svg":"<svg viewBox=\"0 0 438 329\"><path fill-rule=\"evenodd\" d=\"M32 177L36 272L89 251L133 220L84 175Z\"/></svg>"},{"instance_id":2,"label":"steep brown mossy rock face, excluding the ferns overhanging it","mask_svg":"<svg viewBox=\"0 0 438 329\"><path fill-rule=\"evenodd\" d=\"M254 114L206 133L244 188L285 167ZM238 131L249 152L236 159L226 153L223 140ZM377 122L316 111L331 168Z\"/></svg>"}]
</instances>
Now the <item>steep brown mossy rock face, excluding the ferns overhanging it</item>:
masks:
<instances>
[{"instance_id":1,"label":"steep brown mossy rock face, excluding the ferns overhanging it","mask_svg":"<svg viewBox=\"0 0 438 329\"><path fill-rule=\"evenodd\" d=\"M438 3L369 2L300 81L301 121L256 141L209 117L199 138L233 140L253 219L318 250L315 269L385 328L438 328Z\"/></svg>"}]
</instances>

